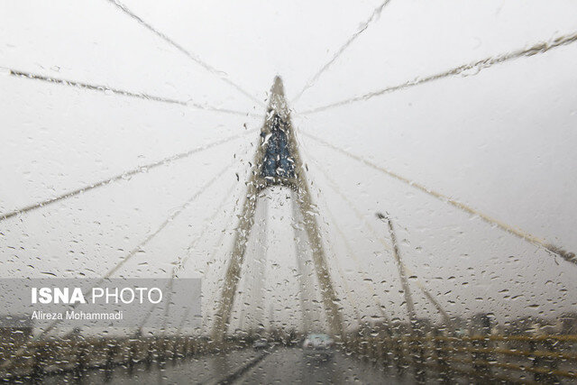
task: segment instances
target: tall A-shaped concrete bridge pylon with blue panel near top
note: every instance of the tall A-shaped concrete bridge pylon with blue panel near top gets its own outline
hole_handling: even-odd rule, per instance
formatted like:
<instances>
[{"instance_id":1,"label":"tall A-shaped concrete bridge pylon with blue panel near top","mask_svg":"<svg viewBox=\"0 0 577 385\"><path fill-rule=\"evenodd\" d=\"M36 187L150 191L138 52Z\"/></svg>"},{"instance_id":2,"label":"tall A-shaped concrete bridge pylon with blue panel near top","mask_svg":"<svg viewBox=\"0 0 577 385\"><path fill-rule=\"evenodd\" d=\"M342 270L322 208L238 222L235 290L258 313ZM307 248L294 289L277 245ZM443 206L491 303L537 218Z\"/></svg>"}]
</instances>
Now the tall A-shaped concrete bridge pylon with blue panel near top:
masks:
<instances>
[{"instance_id":1,"label":"tall A-shaped concrete bridge pylon with blue panel near top","mask_svg":"<svg viewBox=\"0 0 577 385\"><path fill-rule=\"evenodd\" d=\"M262 125L259 144L246 183L242 213L234 234L233 251L224 275L224 285L217 304L212 337L215 342L224 341L230 324L238 283L241 279L244 254L254 225L257 200L263 189L272 186L286 187L294 191L292 197L296 200L312 250L313 266L330 332L335 336L341 336L343 335L343 318L326 263L325 249L316 221L316 209L313 206L305 168L292 128L289 105L279 77L275 78L270 90L270 102Z\"/></svg>"}]
</instances>

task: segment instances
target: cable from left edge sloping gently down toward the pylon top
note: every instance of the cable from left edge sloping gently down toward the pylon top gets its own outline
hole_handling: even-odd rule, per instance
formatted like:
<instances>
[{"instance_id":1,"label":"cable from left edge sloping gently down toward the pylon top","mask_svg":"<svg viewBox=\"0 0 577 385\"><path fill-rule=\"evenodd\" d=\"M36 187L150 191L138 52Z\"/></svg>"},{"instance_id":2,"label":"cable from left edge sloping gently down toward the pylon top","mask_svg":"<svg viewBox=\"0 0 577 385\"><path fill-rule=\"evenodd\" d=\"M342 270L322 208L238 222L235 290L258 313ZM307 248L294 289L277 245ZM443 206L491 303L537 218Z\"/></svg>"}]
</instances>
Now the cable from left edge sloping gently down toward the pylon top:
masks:
<instances>
[{"instance_id":1,"label":"cable from left edge sloping gently down toward the pylon top","mask_svg":"<svg viewBox=\"0 0 577 385\"><path fill-rule=\"evenodd\" d=\"M57 84L60 86L75 87L75 88L79 88L79 89L87 89L90 91L103 92L105 94L137 97L137 98L149 100L152 102L167 103L167 104L171 104L171 105L184 105L184 106L188 106L188 107L195 107L195 108L198 108L200 110L213 111L213 112L217 112L217 113L261 117L261 115L258 115L258 114L243 113L242 111L234 111L234 110L229 110L226 108L218 108L218 107L214 107L212 105L200 105L200 104L193 103L193 102L190 102L187 100L172 99L172 98L165 97L165 96L155 96L155 95L145 94L142 92L128 91L128 90L121 89L121 88L100 86L100 85L95 85L95 84L90 84L90 83L84 83L84 82L77 81L77 80L69 80L69 79L65 79L65 78L52 78L52 77L48 77L48 76L44 76L44 75L40 75L40 74L34 74L32 72L21 71L18 69L7 69L7 68L2 68L2 69L5 69L6 71L8 71L9 75L14 76L16 78L28 78L31 80L39 80L39 81L43 81L43 82L47 82L47 83L51 83L51 84Z\"/></svg>"}]
</instances>

